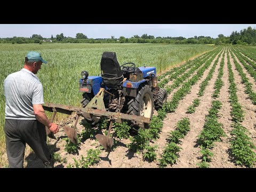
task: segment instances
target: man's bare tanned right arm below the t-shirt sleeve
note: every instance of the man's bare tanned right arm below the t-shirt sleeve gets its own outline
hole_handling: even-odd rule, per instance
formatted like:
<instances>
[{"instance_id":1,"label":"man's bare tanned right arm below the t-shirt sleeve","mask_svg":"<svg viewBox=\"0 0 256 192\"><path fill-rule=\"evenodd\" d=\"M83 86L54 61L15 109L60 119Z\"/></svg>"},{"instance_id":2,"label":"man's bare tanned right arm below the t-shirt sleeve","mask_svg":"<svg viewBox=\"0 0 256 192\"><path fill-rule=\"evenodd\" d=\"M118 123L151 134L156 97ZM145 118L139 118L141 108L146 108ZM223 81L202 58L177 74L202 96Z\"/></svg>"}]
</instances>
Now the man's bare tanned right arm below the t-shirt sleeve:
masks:
<instances>
[{"instance_id":1,"label":"man's bare tanned right arm below the t-shirt sleeve","mask_svg":"<svg viewBox=\"0 0 256 192\"><path fill-rule=\"evenodd\" d=\"M44 113L44 108L42 104L34 104L34 114L36 115L36 119L47 126L50 131L53 133L57 133L59 131L59 126L55 123L51 123L51 121L47 118L46 114Z\"/></svg>"}]
</instances>

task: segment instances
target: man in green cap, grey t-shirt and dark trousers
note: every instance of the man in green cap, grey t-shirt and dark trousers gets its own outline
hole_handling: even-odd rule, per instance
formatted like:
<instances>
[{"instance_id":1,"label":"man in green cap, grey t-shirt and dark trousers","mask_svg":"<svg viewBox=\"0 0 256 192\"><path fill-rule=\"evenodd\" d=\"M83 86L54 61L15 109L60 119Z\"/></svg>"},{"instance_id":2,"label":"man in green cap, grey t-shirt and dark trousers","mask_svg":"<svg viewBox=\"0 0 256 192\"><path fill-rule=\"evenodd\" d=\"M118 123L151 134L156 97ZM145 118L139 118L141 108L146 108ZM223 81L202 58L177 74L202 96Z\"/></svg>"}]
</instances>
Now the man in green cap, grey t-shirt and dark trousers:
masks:
<instances>
[{"instance_id":1,"label":"man in green cap, grey t-shirt and dark trousers","mask_svg":"<svg viewBox=\"0 0 256 192\"><path fill-rule=\"evenodd\" d=\"M35 75L41 69L41 54L30 51L26 55L23 69L12 73L4 81L5 139L9 166L23 167L26 143L51 167L51 154L46 143L47 126L57 133L59 126L51 123L44 113L43 86Z\"/></svg>"}]
</instances>

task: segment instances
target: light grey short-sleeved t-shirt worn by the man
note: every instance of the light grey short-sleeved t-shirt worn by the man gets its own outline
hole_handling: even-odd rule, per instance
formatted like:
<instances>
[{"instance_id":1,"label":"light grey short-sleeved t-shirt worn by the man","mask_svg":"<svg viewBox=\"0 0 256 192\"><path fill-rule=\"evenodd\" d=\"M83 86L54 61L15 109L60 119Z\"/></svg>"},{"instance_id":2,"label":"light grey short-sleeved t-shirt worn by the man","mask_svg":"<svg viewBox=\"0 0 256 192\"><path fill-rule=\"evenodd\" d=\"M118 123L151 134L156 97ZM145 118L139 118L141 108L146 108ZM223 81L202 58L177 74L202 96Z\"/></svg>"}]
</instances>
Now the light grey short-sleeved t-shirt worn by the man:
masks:
<instances>
[{"instance_id":1,"label":"light grey short-sleeved t-shirt worn by the man","mask_svg":"<svg viewBox=\"0 0 256 192\"><path fill-rule=\"evenodd\" d=\"M23 68L4 81L5 118L36 119L33 104L43 104L43 86L38 77Z\"/></svg>"}]
</instances>

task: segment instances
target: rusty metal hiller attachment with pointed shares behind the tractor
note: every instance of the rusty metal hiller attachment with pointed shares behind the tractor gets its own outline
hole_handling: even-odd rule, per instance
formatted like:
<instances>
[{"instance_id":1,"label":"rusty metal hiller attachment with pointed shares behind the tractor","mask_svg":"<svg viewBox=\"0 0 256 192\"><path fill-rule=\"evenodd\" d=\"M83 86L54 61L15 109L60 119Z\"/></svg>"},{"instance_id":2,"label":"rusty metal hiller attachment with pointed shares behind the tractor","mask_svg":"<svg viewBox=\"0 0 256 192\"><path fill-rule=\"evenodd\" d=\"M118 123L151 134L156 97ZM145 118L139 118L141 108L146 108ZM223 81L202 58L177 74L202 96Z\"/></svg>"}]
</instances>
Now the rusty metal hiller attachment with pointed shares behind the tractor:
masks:
<instances>
[{"instance_id":1,"label":"rusty metal hiller attachment with pointed shares behind the tractor","mask_svg":"<svg viewBox=\"0 0 256 192\"><path fill-rule=\"evenodd\" d=\"M108 134L107 136L102 134L95 135L96 139L99 141L99 143L105 148L106 150L111 150L111 147L113 146L113 139L109 137L111 128L113 126L114 122L117 123L123 123L123 120L129 120L132 122L132 124L137 125L139 127L145 127L145 124L150 123L150 118L144 117L144 116L137 116L137 115L128 115L123 114L120 112L111 112L106 111L104 102L103 102L103 93L105 89L101 88L97 95L92 98L92 100L86 105L85 108L83 107L73 107L73 106L66 106L66 105L60 105L60 104L54 104L54 103L45 103L43 105L44 110L52 111L52 112L59 112L64 114L71 115L72 112L76 111L76 122L74 125L74 128L64 126L63 130L67 134L68 138L71 140L71 142L77 144L77 123L79 116L83 116L86 118L92 118L92 117L106 117L110 121ZM106 93L108 93L106 91Z\"/></svg>"}]
</instances>

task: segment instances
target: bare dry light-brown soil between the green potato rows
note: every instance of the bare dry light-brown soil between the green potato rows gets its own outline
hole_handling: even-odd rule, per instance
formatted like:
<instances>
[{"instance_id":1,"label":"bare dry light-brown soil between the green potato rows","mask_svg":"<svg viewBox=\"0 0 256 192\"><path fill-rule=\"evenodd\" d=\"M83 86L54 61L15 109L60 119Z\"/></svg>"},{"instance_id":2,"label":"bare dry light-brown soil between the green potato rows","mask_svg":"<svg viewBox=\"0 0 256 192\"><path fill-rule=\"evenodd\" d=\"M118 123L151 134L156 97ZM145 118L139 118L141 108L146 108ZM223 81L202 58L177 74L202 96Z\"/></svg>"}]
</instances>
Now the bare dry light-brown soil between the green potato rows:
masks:
<instances>
[{"instance_id":1,"label":"bare dry light-brown soil between the green potato rows","mask_svg":"<svg viewBox=\"0 0 256 192\"><path fill-rule=\"evenodd\" d=\"M108 153L105 149L100 149L100 144L98 141L95 140L95 134L93 135L93 138L86 139L85 141L82 141L81 146L79 146L79 150L77 154L68 154L65 151L65 144L66 141L63 140L63 138L66 138L65 133L61 129L57 134L55 134L55 137L57 140L48 138L49 147L52 151L52 153L58 153L60 154L61 158L66 158L66 163L59 163L55 162L54 167L67 167L68 164L74 164L74 159L81 159L81 157L87 156L87 151L89 149L100 149L100 161L98 164L92 165L90 167L98 167L98 168L156 168L159 167L159 161L158 159L161 158L161 154L163 153L163 150L166 146L166 138L170 134L171 131L175 129L175 125L177 122L183 118L187 117L190 120L190 131L187 133L186 137L182 139L179 146L182 148L179 153L179 158L177 163L173 165L168 165L168 168L171 167L178 167L178 168L194 168L198 167L196 164L201 162L201 153L200 153L200 147L197 146L196 141L198 139L198 135L203 130L204 122L205 122L205 116L209 113L209 109L211 108L211 102L213 100L212 93L214 91L214 83L218 76L218 69L220 68L220 61L221 58L224 57L224 68L223 68L223 86L220 90L220 97L218 98L219 101L222 103L222 107L219 110L220 118L218 120L219 123L222 124L223 130L226 134L226 137L222 137L220 142L215 142L215 146L213 149L211 149L211 152L213 153L212 161L210 162L210 167L212 168L236 168L236 167L245 167L245 166L239 166L236 165L233 161L231 155L230 155L230 139L231 135L230 132L232 130L231 125L231 116L230 116L230 110L231 106L229 103L229 81L228 81L228 67L227 67L227 54L229 53L229 49L222 49L220 53L214 58L212 61L210 67L205 70L204 75L199 79L199 81L192 86L191 92L186 95L184 99L182 99L179 102L178 108L175 110L174 113L167 114L166 118L163 121L163 129L161 133L159 133L159 138L155 141L151 142L151 145L157 145L156 154L157 154L157 160L154 162L147 162L143 160L142 154L134 153L133 151L129 150L129 148L126 147L127 144L129 144L131 141L129 139L117 139L117 143L114 144L114 149L110 153ZM206 76L208 75L211 67L213 66L214 61L218 58L218 56L221 55L221 57L218 60L217 66L214 70L213 76L211 78L211 81L209 81L209 84L207 85L204 94L202 97L198 97L197 93L199 91L199 85L204 81ZM235 58L237 60L237 58ZM238 61L238 60L237 60ZM235 76L235 83L237 85L237 96L238 101L243 106L243 109L245 110L245 119L242 122L242 125L246 127L246 129L250 132L249 137L252 138L252 141L254 145L256 145L256 131L255 131L255 122L256 122L256 106L253 105L251 100L247 97L247 94L245 93L245 87L241 83L241 77L238 74L238 71L235 69L234 61L231 59L230 61L232 69L234 71ZM239 65L241 63L238 61ZM246 74L246 76L249 78L249 81L253 83L253 90L256 91L255 82L252 77L247 73L245 68L243 67L243 71ZM193 74L194 75L194 74ZM191 76L190 76L191 78ZM169 82L171 84L172 82ZM170 101L172 99L172 95L175 91L177 91L179 87L172 91L172 93L169 95L168 100ZM196 111L193 114L187 114L187 108L189 105L191 105L192 101L195 98L200 99L200 104L198 107L196 107ZM154 111L154 115L157 112ZM81 133L84 128L83 124L81 123L82 118L79 119L77 129L78 133ZM59 123L60 126L63 126L64 124L67 124L68 126L74 125L75 122L75 116L72 115L69 118L65 120L65 122ZM44 167L41 160L36 157L36 155L31 150L27 150L26 152L26 158L25 158L25 167ZM254 165L254 167L256 167Z\"/></svg>"}]
</instances>

